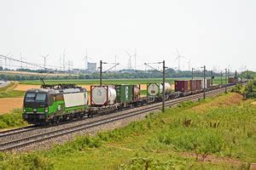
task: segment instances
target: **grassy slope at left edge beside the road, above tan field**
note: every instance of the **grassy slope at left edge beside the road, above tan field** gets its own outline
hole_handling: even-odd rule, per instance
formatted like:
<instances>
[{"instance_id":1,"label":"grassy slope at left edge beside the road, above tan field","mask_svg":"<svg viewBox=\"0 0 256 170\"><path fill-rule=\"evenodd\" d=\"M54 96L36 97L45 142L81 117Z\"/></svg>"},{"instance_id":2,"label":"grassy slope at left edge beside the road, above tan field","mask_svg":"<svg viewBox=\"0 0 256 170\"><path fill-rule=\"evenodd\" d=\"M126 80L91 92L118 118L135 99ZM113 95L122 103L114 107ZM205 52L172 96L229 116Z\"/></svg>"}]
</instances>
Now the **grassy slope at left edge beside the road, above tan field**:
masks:
<instances>
[{"instance_id":1,"label":"grassy slope at left edge beside the road, above tan field","mask_svg":"<svg viewBox=\"0 0 256 170\"><path fill-rule=\"evenodd\" d=\"M18 85L17 82L10 82L8 86L4 88L0 88L0 98L17 98L23 97L25 92L14 90L15 87Z\"/></svg>"}]
</instances>

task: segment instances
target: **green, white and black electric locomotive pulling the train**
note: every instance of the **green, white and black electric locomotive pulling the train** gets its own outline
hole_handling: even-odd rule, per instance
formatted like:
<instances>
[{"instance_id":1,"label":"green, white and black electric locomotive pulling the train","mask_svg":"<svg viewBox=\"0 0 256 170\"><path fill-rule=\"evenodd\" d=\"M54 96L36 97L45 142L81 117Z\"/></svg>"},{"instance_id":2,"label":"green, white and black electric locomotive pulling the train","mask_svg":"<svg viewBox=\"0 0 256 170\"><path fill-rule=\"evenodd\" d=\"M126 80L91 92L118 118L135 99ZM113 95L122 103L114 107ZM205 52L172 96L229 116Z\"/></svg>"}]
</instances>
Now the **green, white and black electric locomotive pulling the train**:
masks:
<instances>
[{"instance_id":1,"label":"green, white and black electric locomotive pulling the train","mask_svg":"<svg viewBox=\"0 0 256 170\"><path fill-rule=\"evenodd\" d=\"M29 89L23 103L23 118L37 125L79 118L87 112L87 91L73 84Z\"/></svg>"}]
</instances>

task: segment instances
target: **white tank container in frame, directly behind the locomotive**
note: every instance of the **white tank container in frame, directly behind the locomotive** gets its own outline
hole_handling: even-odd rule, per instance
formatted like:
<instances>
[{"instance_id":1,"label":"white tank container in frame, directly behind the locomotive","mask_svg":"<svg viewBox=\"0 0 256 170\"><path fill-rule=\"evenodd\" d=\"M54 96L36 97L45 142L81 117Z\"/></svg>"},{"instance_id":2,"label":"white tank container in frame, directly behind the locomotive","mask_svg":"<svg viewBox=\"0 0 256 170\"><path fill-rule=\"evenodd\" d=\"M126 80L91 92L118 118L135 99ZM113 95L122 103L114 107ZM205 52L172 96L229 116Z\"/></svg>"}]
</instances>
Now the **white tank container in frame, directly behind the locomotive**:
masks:
<instances>
[{"instance_id":1,"label":"white tank container in frame, directly behind the locomotive","mask_svg":"<svg viewBox=\"0 0 256 170\"><path fill-rule=\"evenodd\" d=\"M113 86L90 86L90 105L113 105L116 90Z\"/></svg>"}]
</instances>

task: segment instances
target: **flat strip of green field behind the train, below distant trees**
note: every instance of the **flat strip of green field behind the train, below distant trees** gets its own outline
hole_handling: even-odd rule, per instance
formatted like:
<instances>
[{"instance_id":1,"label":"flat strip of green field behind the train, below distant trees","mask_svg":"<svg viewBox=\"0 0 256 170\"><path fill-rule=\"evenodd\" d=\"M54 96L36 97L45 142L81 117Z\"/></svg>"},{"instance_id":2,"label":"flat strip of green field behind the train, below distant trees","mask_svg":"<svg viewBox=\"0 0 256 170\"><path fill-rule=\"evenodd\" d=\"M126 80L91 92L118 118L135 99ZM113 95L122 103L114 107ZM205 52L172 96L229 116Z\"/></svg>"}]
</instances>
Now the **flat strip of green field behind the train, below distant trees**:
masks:
<instances>
[{"instance_id":1,"label":"flat strip of green field behind the train, below distant trees","mask_svg":"<svg viewBox=\"0 0 256 170\"><path fill-rule=\"evenodd\" d=\"M166 82L171 82L173 83L175 80L186 80L190 79L188 78L166 78ZM102 83L103 84L122 84L122 83L127 83L127 84L146 84L147 82L162 82L162 78L144 78L144 79L103 79ZM221 80L220 77L216 77L213 79L214 84L220 84ZM224 82L224 80L223 80ZM86 79L86 80L81 80L81 79L73 79L73 80L45 80L46 84L58 84L58 83L75 83L75 84L99 84L99 80L97 79ZM32 85L40 85L41 82L38 81L22 81L20 84L32 84Z\"/></svg>"}]
</instances>

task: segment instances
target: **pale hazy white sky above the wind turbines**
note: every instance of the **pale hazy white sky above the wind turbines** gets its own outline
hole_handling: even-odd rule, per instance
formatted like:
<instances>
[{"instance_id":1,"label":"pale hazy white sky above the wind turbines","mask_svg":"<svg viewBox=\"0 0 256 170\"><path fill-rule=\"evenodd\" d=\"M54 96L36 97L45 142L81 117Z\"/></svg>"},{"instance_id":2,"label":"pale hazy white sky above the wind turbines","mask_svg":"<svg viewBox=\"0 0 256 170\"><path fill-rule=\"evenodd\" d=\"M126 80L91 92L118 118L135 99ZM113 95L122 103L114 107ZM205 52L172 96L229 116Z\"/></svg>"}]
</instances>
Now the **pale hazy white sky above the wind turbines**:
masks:
<instances>
[{"instance_id":1,"label":"pale hazy white sky above the wind turbines","mask_svg":"<svg viewBox=\"0 0 256 170\"><path fill-rule=\"evenodd\" d=\"M0 54L39 64L49 54L46 65L59 68L65 51L66 63L84 68L87 51L106 70L115 59L127 69L136 50L144 70L162 60L178 67L178 51L182 70L190 59L190 69L256 71L255 8L255 0L0 0Z\"/></svg>"}]
</instances>

